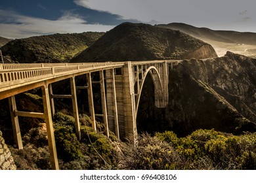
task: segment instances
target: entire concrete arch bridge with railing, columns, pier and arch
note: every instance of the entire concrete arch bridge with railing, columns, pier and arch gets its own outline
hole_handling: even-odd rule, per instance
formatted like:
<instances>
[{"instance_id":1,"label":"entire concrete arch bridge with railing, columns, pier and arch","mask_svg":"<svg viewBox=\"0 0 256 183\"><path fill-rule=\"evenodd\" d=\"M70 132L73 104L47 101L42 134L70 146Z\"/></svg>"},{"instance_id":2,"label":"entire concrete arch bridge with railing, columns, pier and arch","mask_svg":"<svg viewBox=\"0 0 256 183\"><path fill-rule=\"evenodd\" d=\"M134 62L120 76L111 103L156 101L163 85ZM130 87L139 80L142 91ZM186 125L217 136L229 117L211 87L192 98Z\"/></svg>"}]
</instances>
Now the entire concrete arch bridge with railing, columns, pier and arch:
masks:
<instances>
[{"instance_id":1,"label":"entire concrete arch bridge with railing, columns, pier and arch","mask_svg":"<svg viewBox=\"0 0 256 183\"><path fill-rule=\"evenodd\" d=\"M52 169L58 169L58 159L54 140L53 115L54 98L72 99L75 118L75 132L81 139L77 90L87 90L89 110L93 129L96 131L96 116L104 121L106 135L114 131L120 139L137 137L137 111L140 94L147 75L154 82L156 107L168 103L169 67L177 65L178 60L125 61L105 63L23 63L0 64L0 100L8 98L12 120L14 141L19 149L23 148L18 116L43 118L47 125L47 136ZM92 80L92 73L98 72L100 80ZM84 86L76 86L75 77L85 76ZM70 95L54 95L52 84L70 79ZM93 84L100 84L102 114L95 114ZM24 112L16 108L15 95L34 88L41 88L43 112Z\"/></svg>"}]
</instances>

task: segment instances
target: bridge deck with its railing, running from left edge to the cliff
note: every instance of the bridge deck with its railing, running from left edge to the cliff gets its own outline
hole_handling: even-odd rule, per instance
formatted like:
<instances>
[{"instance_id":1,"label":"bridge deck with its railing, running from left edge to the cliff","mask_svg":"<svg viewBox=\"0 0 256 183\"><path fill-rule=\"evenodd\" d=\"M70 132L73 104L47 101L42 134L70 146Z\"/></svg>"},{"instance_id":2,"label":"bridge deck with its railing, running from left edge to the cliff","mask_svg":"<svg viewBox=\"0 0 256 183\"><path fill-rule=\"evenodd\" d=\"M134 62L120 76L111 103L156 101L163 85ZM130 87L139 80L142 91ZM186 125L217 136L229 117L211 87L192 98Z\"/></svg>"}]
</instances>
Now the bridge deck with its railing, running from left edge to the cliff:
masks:
<instances>
[{"instance_id":1,"label":"bridge deck with its railing, running from left edge to the cliff","mask_svg":"<svg viewBox=\"0 0 256 183\"><path fill-rule=\"evenodd\" d=\"M134 61L131 65L146 65L162 63L156 61ZM177 60L168 60L177 63ZM84 75L106 69L123 67L125 62L104 63L1 63L0 64L0 93L22 86L46 81L48 83L63 80L69 76ZM7 96L9 97L9 96ZM0 99L5 98L3 95Z\"/></svg>"}]
</instances>

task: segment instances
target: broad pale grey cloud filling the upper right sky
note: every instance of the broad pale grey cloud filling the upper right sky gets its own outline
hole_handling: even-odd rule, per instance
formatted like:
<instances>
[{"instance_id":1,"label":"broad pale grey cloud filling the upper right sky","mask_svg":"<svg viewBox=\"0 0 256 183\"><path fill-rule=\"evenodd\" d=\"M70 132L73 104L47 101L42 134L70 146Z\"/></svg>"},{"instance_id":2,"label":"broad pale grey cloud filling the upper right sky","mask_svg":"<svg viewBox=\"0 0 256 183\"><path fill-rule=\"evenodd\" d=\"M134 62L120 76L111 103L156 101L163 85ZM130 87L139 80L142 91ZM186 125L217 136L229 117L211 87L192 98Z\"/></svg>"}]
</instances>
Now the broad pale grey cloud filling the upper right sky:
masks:
<instances>
[{"instance_id":1,"label":"broad pale grey cloud filling the upper right sky","mask_svg":"<svg viewBox=\"0 0 256 183\"><path fill-rule=\"evenodd\" d=\"M227 0L74 0L74 3L116 14L123 20L139 20L148 24L183 22L211 29L228 29L225 25L240 20L241 16L250 12L250 20L247 19L247 22L256 31L253 26L256 21L254 0L234 0L232 3ZM243 28L239 24L234 27Z\"/></svg>"}]
</instances>

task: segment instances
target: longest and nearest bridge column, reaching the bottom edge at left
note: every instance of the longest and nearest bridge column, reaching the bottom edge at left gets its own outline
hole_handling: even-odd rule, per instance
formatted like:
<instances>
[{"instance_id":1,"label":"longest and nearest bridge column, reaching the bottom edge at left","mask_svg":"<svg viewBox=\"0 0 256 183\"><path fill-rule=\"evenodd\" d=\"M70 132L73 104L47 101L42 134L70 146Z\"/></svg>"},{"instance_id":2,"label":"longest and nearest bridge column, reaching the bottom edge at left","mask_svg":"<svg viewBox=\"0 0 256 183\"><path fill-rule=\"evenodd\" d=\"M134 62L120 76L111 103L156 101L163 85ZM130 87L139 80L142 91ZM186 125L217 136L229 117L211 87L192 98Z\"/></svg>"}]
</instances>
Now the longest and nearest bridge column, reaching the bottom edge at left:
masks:
<instances>
[{"instance_id":1,"label":"longest and nearest bridge column, reaching the bottom edge at left","mask_svg":"<svg viewBox=\"0 0 256 183\"><path fill-rule=\"evenodd\" d=\"M53 120L51 116L49 90L47 84L41 87L43 93L43 110L45 114L45 122L47 127L47 137L50 150L50 161L52 169L58 170L58 158L56 152L56 144L54 139Z\"/></svg>"}]
</instances>

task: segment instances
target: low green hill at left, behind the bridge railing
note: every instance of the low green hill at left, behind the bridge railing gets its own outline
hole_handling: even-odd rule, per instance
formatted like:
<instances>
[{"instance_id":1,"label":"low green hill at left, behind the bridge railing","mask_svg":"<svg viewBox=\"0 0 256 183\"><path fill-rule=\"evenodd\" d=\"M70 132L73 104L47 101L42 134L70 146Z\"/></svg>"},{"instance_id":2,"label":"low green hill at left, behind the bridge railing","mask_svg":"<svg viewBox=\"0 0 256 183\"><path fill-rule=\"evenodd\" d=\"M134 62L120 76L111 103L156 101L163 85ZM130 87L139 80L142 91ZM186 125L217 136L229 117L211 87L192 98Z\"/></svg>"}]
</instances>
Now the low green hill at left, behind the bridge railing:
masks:
<instances>
[{"instance_id":1,"label":"low green hill at left, behind the bridge railing","mask_svg":"<svg viewBox=\"0 0 256 183\"><path fill-rule=\"evenodd\" d=\"M15 39L1 47L3 55L18 63L69 62L104 33L54 34Z\"/></svg>"}]
</instances>

